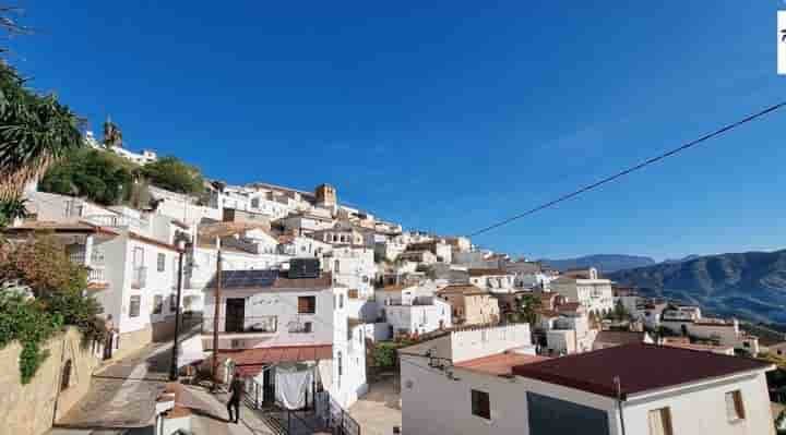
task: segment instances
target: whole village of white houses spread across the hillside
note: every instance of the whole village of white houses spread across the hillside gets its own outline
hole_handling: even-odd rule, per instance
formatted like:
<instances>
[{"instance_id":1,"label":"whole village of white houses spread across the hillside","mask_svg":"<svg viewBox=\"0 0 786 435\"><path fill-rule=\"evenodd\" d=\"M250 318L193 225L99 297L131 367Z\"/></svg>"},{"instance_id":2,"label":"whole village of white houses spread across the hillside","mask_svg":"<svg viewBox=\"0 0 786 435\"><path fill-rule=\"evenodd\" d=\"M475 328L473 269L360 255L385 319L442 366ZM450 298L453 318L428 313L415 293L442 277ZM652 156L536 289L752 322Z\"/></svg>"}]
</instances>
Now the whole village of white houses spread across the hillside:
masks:
<instances>
[{"instance_id":1,"label":"whole village of white houses spread across the hillside","mask_svg":"<svg viewBox=\"0 0 786 435\"><path fill-rule=\"evenodd\" d=\"M92 133L85 143L135 165L157 158ZM109 330L95 351L104 363L177 329L183 379L240 376L246 407L311 408L309 424L338 433L360 433L348 410L384 349L397 352L389 370L401 391L401 423L384 433L553 434L577 422L598 434L773 431L765 373L775 366L752 357L786 346L765 346L737 319L640 297L592 267L560 271L404 229L343 204L329 183L147 190L133 208L33 184L27 217L4 229L10 240L55 237L88 270L85 294ZM338 428L317 418L320 403L342 415ZM155 408L171 431L188 425L177 399ZM284 414L263 415L294 433Z\"/></svg>"}]
</instances>

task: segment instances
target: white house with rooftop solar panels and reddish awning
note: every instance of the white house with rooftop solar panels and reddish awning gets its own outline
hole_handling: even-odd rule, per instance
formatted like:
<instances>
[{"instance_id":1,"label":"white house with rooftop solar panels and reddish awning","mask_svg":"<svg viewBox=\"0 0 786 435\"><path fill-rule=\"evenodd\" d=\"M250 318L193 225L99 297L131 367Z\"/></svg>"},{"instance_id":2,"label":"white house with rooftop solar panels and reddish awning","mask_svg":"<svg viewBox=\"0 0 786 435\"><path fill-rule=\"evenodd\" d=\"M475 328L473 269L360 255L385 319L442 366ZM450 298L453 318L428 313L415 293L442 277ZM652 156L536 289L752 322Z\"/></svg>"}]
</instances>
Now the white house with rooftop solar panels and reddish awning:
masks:
<instances>
[{"instance_id":1,"label":"white house with rooftop solar panels and reddish awning","mask_svg":"<svg viewBox=\"0 0 786 435\"><path fill-rule=\"evenodd\" d=\"M246 378L263 386L263 401L278 398L276 376L305 364L309 376L342 407L367 390L364 325L348 315L348 290L330 274L300 277L284 270L223 275L219 352ZM212 351L215 281L205 288L203 346ZM302 386L312 395L311 383ZM286 403L283 403L286 406Z\"/></svg>"}]
</instances>

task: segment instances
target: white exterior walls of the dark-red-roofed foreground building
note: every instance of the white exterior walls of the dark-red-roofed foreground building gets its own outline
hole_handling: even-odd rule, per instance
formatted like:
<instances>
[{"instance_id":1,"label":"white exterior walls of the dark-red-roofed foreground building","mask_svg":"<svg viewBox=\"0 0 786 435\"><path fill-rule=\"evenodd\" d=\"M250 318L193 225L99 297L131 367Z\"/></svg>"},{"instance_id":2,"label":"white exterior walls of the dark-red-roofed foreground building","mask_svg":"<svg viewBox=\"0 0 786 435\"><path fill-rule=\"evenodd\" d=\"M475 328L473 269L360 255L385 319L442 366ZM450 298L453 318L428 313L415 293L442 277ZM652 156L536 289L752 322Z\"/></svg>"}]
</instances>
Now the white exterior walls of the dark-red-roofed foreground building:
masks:
<instances>
[{"instance_id":1,"label":"white exterior walls of the dark-red-roofed foreground building","mask_svg":"<svg viewBox=\"0 0 786 435\"><path fill-rule=\"evenodd\" d=\"M559 385L524 377L505 379L460 367L453 368L450 379L444 372L429 367L427 359L408 355L402 355L401 382L402 432L406 434L527 435L527 391L605 411L609 434L621 434L612 398ZM472 389L489 394L491 420L472 414ZM729 423L725 392L736 389L742 392L746 419ZM626 433L650 434L648 411L664 407L670 409L675 435L774 434L763 373L629 397L623 403Z\"/></svg>"}]
</instances>

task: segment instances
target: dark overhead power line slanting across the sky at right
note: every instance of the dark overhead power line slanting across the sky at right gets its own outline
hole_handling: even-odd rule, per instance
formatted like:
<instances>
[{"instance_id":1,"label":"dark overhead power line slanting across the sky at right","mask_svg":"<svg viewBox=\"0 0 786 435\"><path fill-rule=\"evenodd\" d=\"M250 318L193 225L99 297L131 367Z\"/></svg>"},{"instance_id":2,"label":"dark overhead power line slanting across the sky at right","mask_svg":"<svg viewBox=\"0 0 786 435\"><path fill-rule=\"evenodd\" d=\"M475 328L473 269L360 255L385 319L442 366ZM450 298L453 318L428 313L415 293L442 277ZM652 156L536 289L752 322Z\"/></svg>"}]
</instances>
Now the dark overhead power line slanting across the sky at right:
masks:
<instances>
[{"instance_id":1,"label":"dark overhead power line slanting across the sky at right","mask_svg":"<svg viewBox=\"0 0 786 435\"><path fill-rule=\"evenodd\" d=\"M652 157L652 158L650 158L650 159L646 159L646 160L640 162L639 165L635 165L635 166L632 166L632 167L630 167L630 168L628 168L628 169L621 170L621 171L619 171L619 172L617 172L617 173L615 173L615 174L612 174L612 176L606 177L606 178L604 178L604 179L602 179L602 180L599 180L599 181L596 181L596 182L594 182L594 183L592 183L592 184L587 184L587 185L585 185L585 186L583 186L583 188L581 188L581 189L579 189L579 190L575 190L575 191L573 191L573 192L571 192L571 193L564 194L564 195L562 195L562 196L560 196L560 197L558 197L558 198L556 198L556 200L549 201L548 203L538 205L538 206L535 207L535 208L531 208L531 209L528 209L528 210L526 210L526 212L524 212L524 213L521 213L521 214L515 215L515 216L511 216L511 217L509 217L509 218L507 218L507 219L504 219L504 220L500 220L499 222L496 222L496 223L490 225L490 226L488 226L488 227L481 228L481 229L479 229L479 230L477 230L477 231L475 231L475 232L469 233L468 237L475 237L475 235L478 235L478 234L483 234L483 233L485 233L485 232L491 231L491 230L497 229L497 228L499 228L499 227L505 226L505 225L508 225L508 223L510 223L510 222L512 222L512 221L514 221L514 220L519 220L519 219L521 219L521 218L524 218L524 217L526 217L526 216L533 215L533 214L535 214L535 213L537 213L537 212L540 212L540 210L543 210L543 209L552 207L552 206L555 206L555 205L563 202L563 201L571 200L571 198L573 198L573 197L575 197L575 196L581 195L582 193L585 193L585 192L588 192L588 191L591 191L591 190L593 190L593 189L599 188L599 186L602 186L602 185L604 185L604 184L606 184L606 183L609 183L609 182L615 181L615 180L617 180L617 179L619 179L619 178L622 178L622 177L624 177L624 176L627 176L627 174L629 174L629 173L631 173L631 172L635 172L635 171L638 171L638 170L640 170L640 169L643 169L643 168L646 167L646 166L656 164L656 162L658 162L658 161L660 161L660 160L664 160L664 159L666 159L666 158L669 158L669 157L671 157L671 156L674 156L674 155L676 155L676 154L678 154L678 153L681 153L681 152L683 152L683 150L686 150L686 149L688 149L688 148L692 148L692 147L694 147L694 146L696 146L696 145L699 145L699 144L701 144L701 143L703 143L703 142L706 142L706 141L711 140L711 138L714 138L714 137L719 136L719 135L722 135L722 134L724 134L724 133L727 133L728 131L734 130L734 129L736 129L736 128L738 128L738 126L741 126L742 124L746 124L746 123L748 123L748 122L751 122L751 121L753 121L753 120L755 120L755 119L758 119L758 118L764 117L765 114L772 113L772 112L774 112L774 111L776 111L776 110L778 110L778 109L782 109L784 106L786 106L786 101L779 102L779 104L776 104L776 105L773 105L773 106L770 106L770 107L767 107L767 108L764 109L764 110L758 111L758 112L755 112L755 113L753 113L753 114L750 114L750 116L748 116L748 117L746 117L746 118L740 119L739 121L736 121L736 122L734 122L734 123L727 124L727 125L725 125L725 126L723 126L723 128L720 128L720 129L718 129L718 130L713 131L712 133L707 133L707 134L705 134L705 135L703 135L703 136L701 136L701 137L699 137L699 138L696 138L696 140L693 140L693 141L691 141L691 142L688 142L688 143L686 143L686 144L683 144L683 145L681 145L681 146L679 146L679 147L677 147L677 148L674 148L674 149L671 149L671 150L669 150L669 152L667 152L667 153L664 153L664 154L662 154L662 155L659 155L659 156L656 156L656 157Z\"/></svg>"}]
</instances>

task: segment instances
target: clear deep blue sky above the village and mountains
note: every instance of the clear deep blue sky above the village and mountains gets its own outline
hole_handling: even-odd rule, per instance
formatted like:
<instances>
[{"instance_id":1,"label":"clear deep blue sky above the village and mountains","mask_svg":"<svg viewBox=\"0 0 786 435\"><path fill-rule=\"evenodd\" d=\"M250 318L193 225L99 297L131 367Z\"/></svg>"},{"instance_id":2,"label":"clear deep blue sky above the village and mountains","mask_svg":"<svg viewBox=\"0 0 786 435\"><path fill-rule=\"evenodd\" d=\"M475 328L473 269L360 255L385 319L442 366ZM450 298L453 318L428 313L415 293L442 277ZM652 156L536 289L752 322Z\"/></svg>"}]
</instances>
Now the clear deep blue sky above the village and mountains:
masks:
<instances>
[{"instance_id":1,"label":"clear deep blue sky above the village and mountains","mask_svg":"<svg viewBox=\"0 0 786 435\"><path fill-rule=\"evenodd\" d=\"M12 63L230 183L468 233L786 98L776 1L25 0ZM158 3L158 4L156 4ZM286 4L284 4L286 3ZM478 237L532 257L786 247L786 111Z\"/></svg>"}]
</instances>

